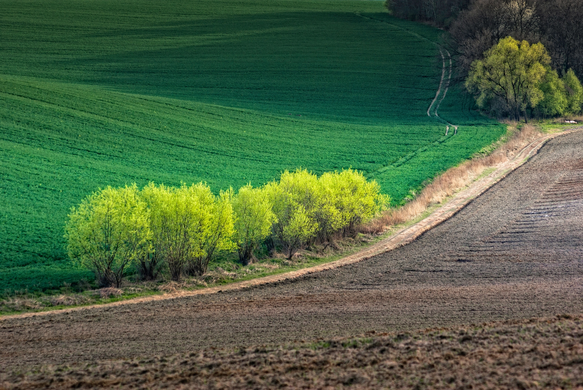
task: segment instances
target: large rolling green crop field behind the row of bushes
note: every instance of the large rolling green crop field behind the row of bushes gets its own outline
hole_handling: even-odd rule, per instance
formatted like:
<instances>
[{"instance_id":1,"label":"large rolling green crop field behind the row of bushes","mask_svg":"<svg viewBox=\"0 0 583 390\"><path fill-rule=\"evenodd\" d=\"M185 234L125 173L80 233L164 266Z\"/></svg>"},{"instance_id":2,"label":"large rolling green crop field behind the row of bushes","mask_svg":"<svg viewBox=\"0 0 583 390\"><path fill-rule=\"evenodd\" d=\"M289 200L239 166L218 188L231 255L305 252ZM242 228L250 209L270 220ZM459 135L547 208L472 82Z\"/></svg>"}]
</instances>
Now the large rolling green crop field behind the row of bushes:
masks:
<instances>
[{"instance_id":1,"label":"large rolling green crop field behind the row of bushes","mask_svg":"<svg viewBox=\"0 0 583 390\"><path fill-rule=\"evenodd\" d=\"M353 167L399 203L505 131L450 89L442 31L380 1L0 0L0 291L90 277L66 214L106 185Z\"/></svg>"}]
</instances>

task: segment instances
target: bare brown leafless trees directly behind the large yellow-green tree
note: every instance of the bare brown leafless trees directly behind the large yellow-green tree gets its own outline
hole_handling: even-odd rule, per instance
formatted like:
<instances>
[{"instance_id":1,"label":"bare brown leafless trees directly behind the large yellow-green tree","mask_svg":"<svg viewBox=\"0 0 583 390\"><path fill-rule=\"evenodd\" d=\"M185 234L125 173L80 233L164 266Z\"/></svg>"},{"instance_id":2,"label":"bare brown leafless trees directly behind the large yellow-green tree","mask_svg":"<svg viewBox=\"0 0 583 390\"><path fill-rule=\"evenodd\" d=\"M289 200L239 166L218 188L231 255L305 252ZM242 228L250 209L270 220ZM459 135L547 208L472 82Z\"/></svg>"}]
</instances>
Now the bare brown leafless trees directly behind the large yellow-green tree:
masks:
<instances>
[{"instance_id":1,"label":"bare brown leafless trees directly behind the large yellow-green tree","mask_svg":"<svg viewBox=\"0 0 583 390\"><path fill-rule=\"evenodd\" d=\"M583 76L583 0L472 0L449 27L462 72L502 38L542 43L559 74Z\"/></svg>"}]
</instances>

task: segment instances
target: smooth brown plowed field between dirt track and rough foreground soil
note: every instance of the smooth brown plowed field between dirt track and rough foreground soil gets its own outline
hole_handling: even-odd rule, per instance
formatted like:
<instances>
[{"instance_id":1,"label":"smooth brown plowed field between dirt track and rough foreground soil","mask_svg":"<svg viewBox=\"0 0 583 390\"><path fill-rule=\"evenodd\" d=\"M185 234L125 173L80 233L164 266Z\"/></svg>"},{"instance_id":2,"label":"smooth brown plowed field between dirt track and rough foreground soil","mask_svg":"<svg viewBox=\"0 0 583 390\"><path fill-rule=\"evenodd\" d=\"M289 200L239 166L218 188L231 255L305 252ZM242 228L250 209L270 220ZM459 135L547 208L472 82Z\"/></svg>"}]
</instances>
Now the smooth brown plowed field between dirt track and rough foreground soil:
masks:
<instances>
[{"instance_id":1,"label":"smooth brown plowed field between dirt track and rough foreground soil","mask_svg":"<svg viewBox=\"0 0 583 390\"><path fill-rule=\"evenodd\" d=\"M583 132L447 222L343 268L218 294L0 321L0 370L583 312Z\"/></svg>"}]
</instances>

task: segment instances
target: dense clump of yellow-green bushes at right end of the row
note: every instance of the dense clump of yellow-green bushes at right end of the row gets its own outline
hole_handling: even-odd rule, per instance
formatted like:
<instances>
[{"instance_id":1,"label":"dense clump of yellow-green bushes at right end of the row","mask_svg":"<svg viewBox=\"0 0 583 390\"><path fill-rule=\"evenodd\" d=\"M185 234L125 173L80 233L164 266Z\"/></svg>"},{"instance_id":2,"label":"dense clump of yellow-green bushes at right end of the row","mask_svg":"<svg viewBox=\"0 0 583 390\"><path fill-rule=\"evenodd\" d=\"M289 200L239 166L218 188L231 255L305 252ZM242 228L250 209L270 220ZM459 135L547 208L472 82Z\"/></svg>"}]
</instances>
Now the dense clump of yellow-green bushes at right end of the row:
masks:
<instances>
[{"instance_id":1,"label":"dense clump of yellow-green bushes at right end of the row","mask_svg":"<svg viewBox=\"0 0 583 390\"><path fill-rule=\"evenodd\" d=\"M319 178L305 169L285 171L279 182L270 182L264 191L277 217L273 244L282 247L288 258L314 238L326 242L336 233L352 233L391 200L380 193L376 181L367 181L352 168Z\"/></svg>"}]
</instances>

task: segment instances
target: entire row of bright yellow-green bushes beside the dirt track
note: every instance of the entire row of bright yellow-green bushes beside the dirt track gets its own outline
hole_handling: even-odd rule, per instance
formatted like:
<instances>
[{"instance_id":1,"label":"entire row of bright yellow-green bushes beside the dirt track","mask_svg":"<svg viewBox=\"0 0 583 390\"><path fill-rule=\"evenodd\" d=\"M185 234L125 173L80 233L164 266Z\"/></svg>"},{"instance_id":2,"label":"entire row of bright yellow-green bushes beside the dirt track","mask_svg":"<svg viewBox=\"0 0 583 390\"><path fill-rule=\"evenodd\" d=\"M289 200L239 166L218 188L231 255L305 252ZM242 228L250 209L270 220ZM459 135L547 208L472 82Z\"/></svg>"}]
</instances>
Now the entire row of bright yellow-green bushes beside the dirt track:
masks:
<instances>
[{"instance_id":1,"label":"entire row of bright yellow-green bushes beside the dirt track","mask_svg":"<svg viewBox=\"0 0 583 390\"><path fill-rule=\"evenodd\" d=\"M356 170L285 171L279 181L213 194L208 185L150 183L107 187L72 208L65 226L69 256L92 269L100 286L120 286L132 265L142 279L201 276L219 252L243 265L262 243L287 258L304 245L353 234L390 198Z\"/></svg>"}]
</instances>

